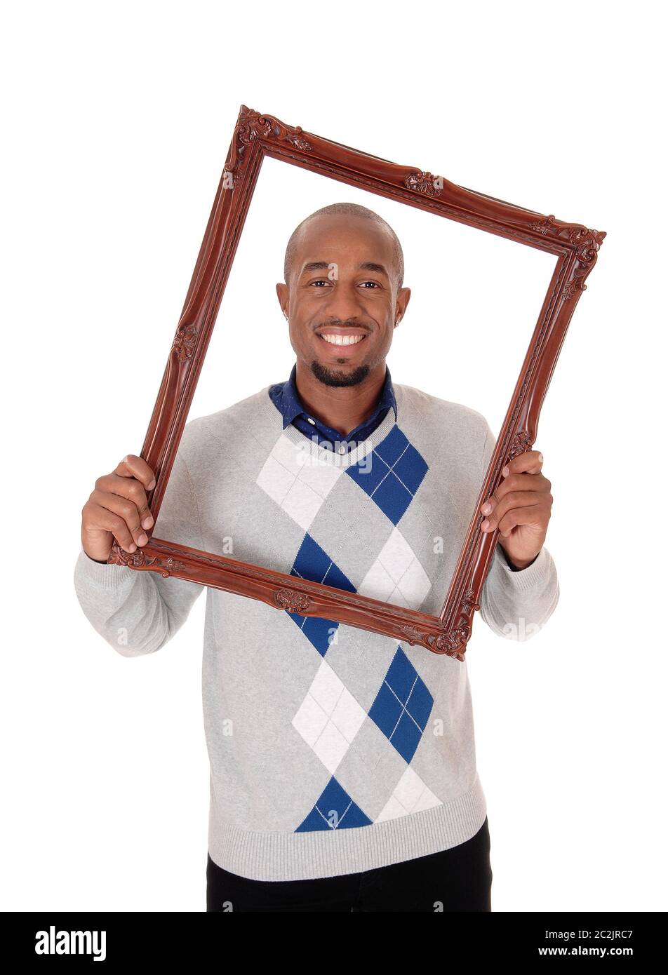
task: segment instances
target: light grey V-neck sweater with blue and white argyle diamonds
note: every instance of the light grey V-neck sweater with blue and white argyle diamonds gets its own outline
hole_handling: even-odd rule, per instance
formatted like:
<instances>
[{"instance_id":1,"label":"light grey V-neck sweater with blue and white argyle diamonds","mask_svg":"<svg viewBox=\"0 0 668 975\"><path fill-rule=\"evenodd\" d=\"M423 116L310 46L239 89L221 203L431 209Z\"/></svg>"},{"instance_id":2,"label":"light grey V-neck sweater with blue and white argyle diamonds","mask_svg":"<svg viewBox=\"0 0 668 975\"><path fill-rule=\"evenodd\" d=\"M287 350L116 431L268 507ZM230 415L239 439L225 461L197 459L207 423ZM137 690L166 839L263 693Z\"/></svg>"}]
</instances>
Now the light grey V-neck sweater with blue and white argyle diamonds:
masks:
<instances>
[{"instance_id":1,"label":"light grey V-neck sweater with blue and white argyle diamonds","mask_svg":"<svg viewBox=\"0 0 668 975\"><path fill-rule=\"evenodd\" d=\"M390 409L342 457L284 430L269 388L186 424L156 537L438 615L494 446L486 419L395 383L396 419ZM218 866L258 880L334 877L448 849L482 826L465 661L97 563L83 548L74 583L98 634L127 657L168 643L206 591ZM497 545L475 618L511 638L499 652L517 654L558 598L545 547L512 571Z\"/></svg>"}]
</instances>

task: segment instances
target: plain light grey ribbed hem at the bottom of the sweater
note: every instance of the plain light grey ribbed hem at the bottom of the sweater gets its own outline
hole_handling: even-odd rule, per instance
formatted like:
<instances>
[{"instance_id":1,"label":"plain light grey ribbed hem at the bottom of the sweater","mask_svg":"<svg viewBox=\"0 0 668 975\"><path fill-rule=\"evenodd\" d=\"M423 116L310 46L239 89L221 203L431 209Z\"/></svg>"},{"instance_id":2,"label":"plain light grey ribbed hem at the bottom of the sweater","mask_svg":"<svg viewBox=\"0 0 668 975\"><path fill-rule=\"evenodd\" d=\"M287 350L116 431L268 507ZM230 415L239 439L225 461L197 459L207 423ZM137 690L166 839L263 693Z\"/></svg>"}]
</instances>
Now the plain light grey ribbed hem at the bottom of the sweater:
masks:
<instances>
[{"instance_id":1,"label":"plain light grey ribbed hem at the bottom of the sweater","mask_svg":"<svg viewBox=\"0 0 668 975\"><path fill-rule=\"evenodd\" d=\"M209 854L223 870L254 880L340 877L403 863L471 839L487 816L476 773L464 796L372 826L312 833L252 833L216 821L212 804Z\"/></svg>"}]
</instances>

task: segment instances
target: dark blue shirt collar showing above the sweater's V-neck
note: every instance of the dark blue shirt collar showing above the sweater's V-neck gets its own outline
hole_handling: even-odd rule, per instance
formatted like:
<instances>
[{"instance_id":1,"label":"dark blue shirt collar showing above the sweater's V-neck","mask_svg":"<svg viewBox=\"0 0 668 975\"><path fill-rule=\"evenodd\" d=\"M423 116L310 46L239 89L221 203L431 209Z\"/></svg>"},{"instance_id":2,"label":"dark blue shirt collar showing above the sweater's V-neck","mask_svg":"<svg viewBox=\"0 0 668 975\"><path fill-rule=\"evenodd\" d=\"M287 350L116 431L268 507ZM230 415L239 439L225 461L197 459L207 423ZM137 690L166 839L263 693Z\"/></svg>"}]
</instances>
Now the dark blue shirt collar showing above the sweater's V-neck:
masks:
<instances>
[{"instance_id":1,"label":"dark blue shirt collar showing above the sweater's V-neck","mask_svg":"<svg viewBox=\"0 0 668 975\"><path fill-rule=\"evenodd\" d=\"M290 378L286 382L277 382L269 387L269 396L274 406L283 414L283 429L285 430L288 424L292 423L309 440L315 438L318 444L331 445L339 453L349 453L350 450L357 447L358 443L371 437L376 427L384 420L389 409L394 410L394 418L397 419L397 400L387 365L385 365L385 381L372 415L356 426L354 430L351 430L345 439L338 430L334 430L333 427L329 427L326 423L306 412L296 391L295 378L296 363L290 373Z\"/></svg>"}]
</instances>

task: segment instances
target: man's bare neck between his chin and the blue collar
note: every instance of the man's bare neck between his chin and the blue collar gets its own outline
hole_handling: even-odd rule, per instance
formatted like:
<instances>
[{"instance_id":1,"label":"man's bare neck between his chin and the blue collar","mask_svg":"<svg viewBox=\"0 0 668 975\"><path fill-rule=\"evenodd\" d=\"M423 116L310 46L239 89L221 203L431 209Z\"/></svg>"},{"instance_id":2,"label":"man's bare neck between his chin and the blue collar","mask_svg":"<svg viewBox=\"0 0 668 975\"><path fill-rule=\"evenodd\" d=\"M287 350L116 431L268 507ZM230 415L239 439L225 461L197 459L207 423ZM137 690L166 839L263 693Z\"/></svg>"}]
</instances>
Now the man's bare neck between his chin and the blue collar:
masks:
<instances>
[{"instance_id":1,"label":"man's bare neck between his chin and the blue collar","mask_svg":"<svg viewBox=\"0 0 668 975\"><path fill-rule=\"evenodd\" d=\"M295 385L304 408L343 437L371 416L385 381L385 361L355 386L327 386L299 359Z\"/></svg>"}]
</instances>

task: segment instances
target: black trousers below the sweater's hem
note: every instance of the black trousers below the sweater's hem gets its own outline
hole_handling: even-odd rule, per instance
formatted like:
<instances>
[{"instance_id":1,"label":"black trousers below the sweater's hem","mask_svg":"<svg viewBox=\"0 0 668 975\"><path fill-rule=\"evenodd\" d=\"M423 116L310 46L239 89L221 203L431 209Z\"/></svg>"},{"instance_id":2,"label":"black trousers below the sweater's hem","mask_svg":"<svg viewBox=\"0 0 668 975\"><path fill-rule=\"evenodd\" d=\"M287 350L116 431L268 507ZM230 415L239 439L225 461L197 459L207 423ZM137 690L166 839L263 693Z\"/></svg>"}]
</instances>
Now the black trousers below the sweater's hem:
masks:
<instances>
[{"instance_id":1,"label":"black trousers below the sweater's hem","mask_svg":"<svg viewBox=\"0 0 668 975\"><path fill-rule=\"evenodd\" d=\"M207 912L491 911L487 818L451 849L360 874L315 880L251 880L207 854Z\"/></svg>"}]
</instances>

